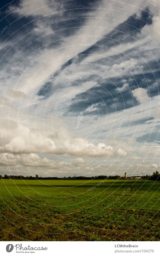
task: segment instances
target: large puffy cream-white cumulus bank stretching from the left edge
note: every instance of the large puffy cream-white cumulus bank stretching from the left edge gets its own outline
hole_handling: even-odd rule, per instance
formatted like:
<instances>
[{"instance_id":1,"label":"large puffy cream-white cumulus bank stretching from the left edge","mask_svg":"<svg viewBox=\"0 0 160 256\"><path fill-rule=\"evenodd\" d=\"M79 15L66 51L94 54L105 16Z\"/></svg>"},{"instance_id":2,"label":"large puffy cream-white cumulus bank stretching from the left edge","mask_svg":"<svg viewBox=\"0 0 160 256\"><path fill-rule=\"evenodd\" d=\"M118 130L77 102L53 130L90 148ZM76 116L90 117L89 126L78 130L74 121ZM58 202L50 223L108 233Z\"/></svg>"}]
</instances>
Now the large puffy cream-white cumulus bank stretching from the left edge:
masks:
<instances>
[{"instance_id":1,"label":"large puffy cream-white cumulus bank stretching from the left edge","mask_svg":"<svg viewBox=\"0 0 160 256\"><path fill-rule=\"evenodd\" d=\"M51 153L55 155L68 154L72 156L111 156L113 153L113 147L107 146L104 143L98 143L95 145L89 143L83 138L72 138L71 140L59 141L56 137L44 136L40 131L35 129L29 129L23 125L19 125L17 130L16 123L13 122L12 128L8 132L3 131L2 136L5 135L3 147L0 147L1 151L12 153ZM10 140L9 140L10 136ZM74 139L74 141L73 141ZM124 153L120 154L125 156ZM81 158L77 159L82 161ZM84 161L84 160L83 160Z\"/></svg>"}]
</instances>

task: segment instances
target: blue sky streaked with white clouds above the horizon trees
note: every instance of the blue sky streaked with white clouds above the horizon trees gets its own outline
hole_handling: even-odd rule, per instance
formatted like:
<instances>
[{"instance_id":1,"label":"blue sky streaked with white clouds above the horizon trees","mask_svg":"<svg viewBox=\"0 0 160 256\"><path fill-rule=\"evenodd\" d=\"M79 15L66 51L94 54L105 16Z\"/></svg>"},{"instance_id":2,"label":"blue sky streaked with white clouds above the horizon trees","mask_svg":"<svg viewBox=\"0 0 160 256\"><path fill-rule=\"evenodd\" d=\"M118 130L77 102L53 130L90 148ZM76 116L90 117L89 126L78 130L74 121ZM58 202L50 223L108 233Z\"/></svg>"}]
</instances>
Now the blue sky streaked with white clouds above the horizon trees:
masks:
<instances>
[{"instance_id":1,"label":"blue sky streaked with white clouds above the horizon trees","mask_svg":"<svg viewBox=\"0 0 160 256\"><path fill-rule=\"evenodd\" d=\"M0 3L0 174L159 170L160 1Z\"/></svg>"}]
</instances>

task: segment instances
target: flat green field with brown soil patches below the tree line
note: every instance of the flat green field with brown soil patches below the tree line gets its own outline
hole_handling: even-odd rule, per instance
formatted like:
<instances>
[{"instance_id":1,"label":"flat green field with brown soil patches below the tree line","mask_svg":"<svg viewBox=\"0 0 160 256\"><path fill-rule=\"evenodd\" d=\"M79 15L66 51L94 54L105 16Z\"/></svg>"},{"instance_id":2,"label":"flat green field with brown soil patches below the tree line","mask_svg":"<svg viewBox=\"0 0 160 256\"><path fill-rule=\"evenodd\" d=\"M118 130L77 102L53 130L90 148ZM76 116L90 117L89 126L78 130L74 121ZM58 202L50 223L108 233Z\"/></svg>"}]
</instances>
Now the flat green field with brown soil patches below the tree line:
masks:
<instances>
[{"instance_id":1,"label":"flat green field with brown soil patches below the tree line","mask_svg":"<svg viewBox=\"0 0 160 256\"><path fill-rule=\"evenodd\" d=\"M1 179L0 239L159 241L159 187L146 180Z\"/></svg>"}]
</instances>

